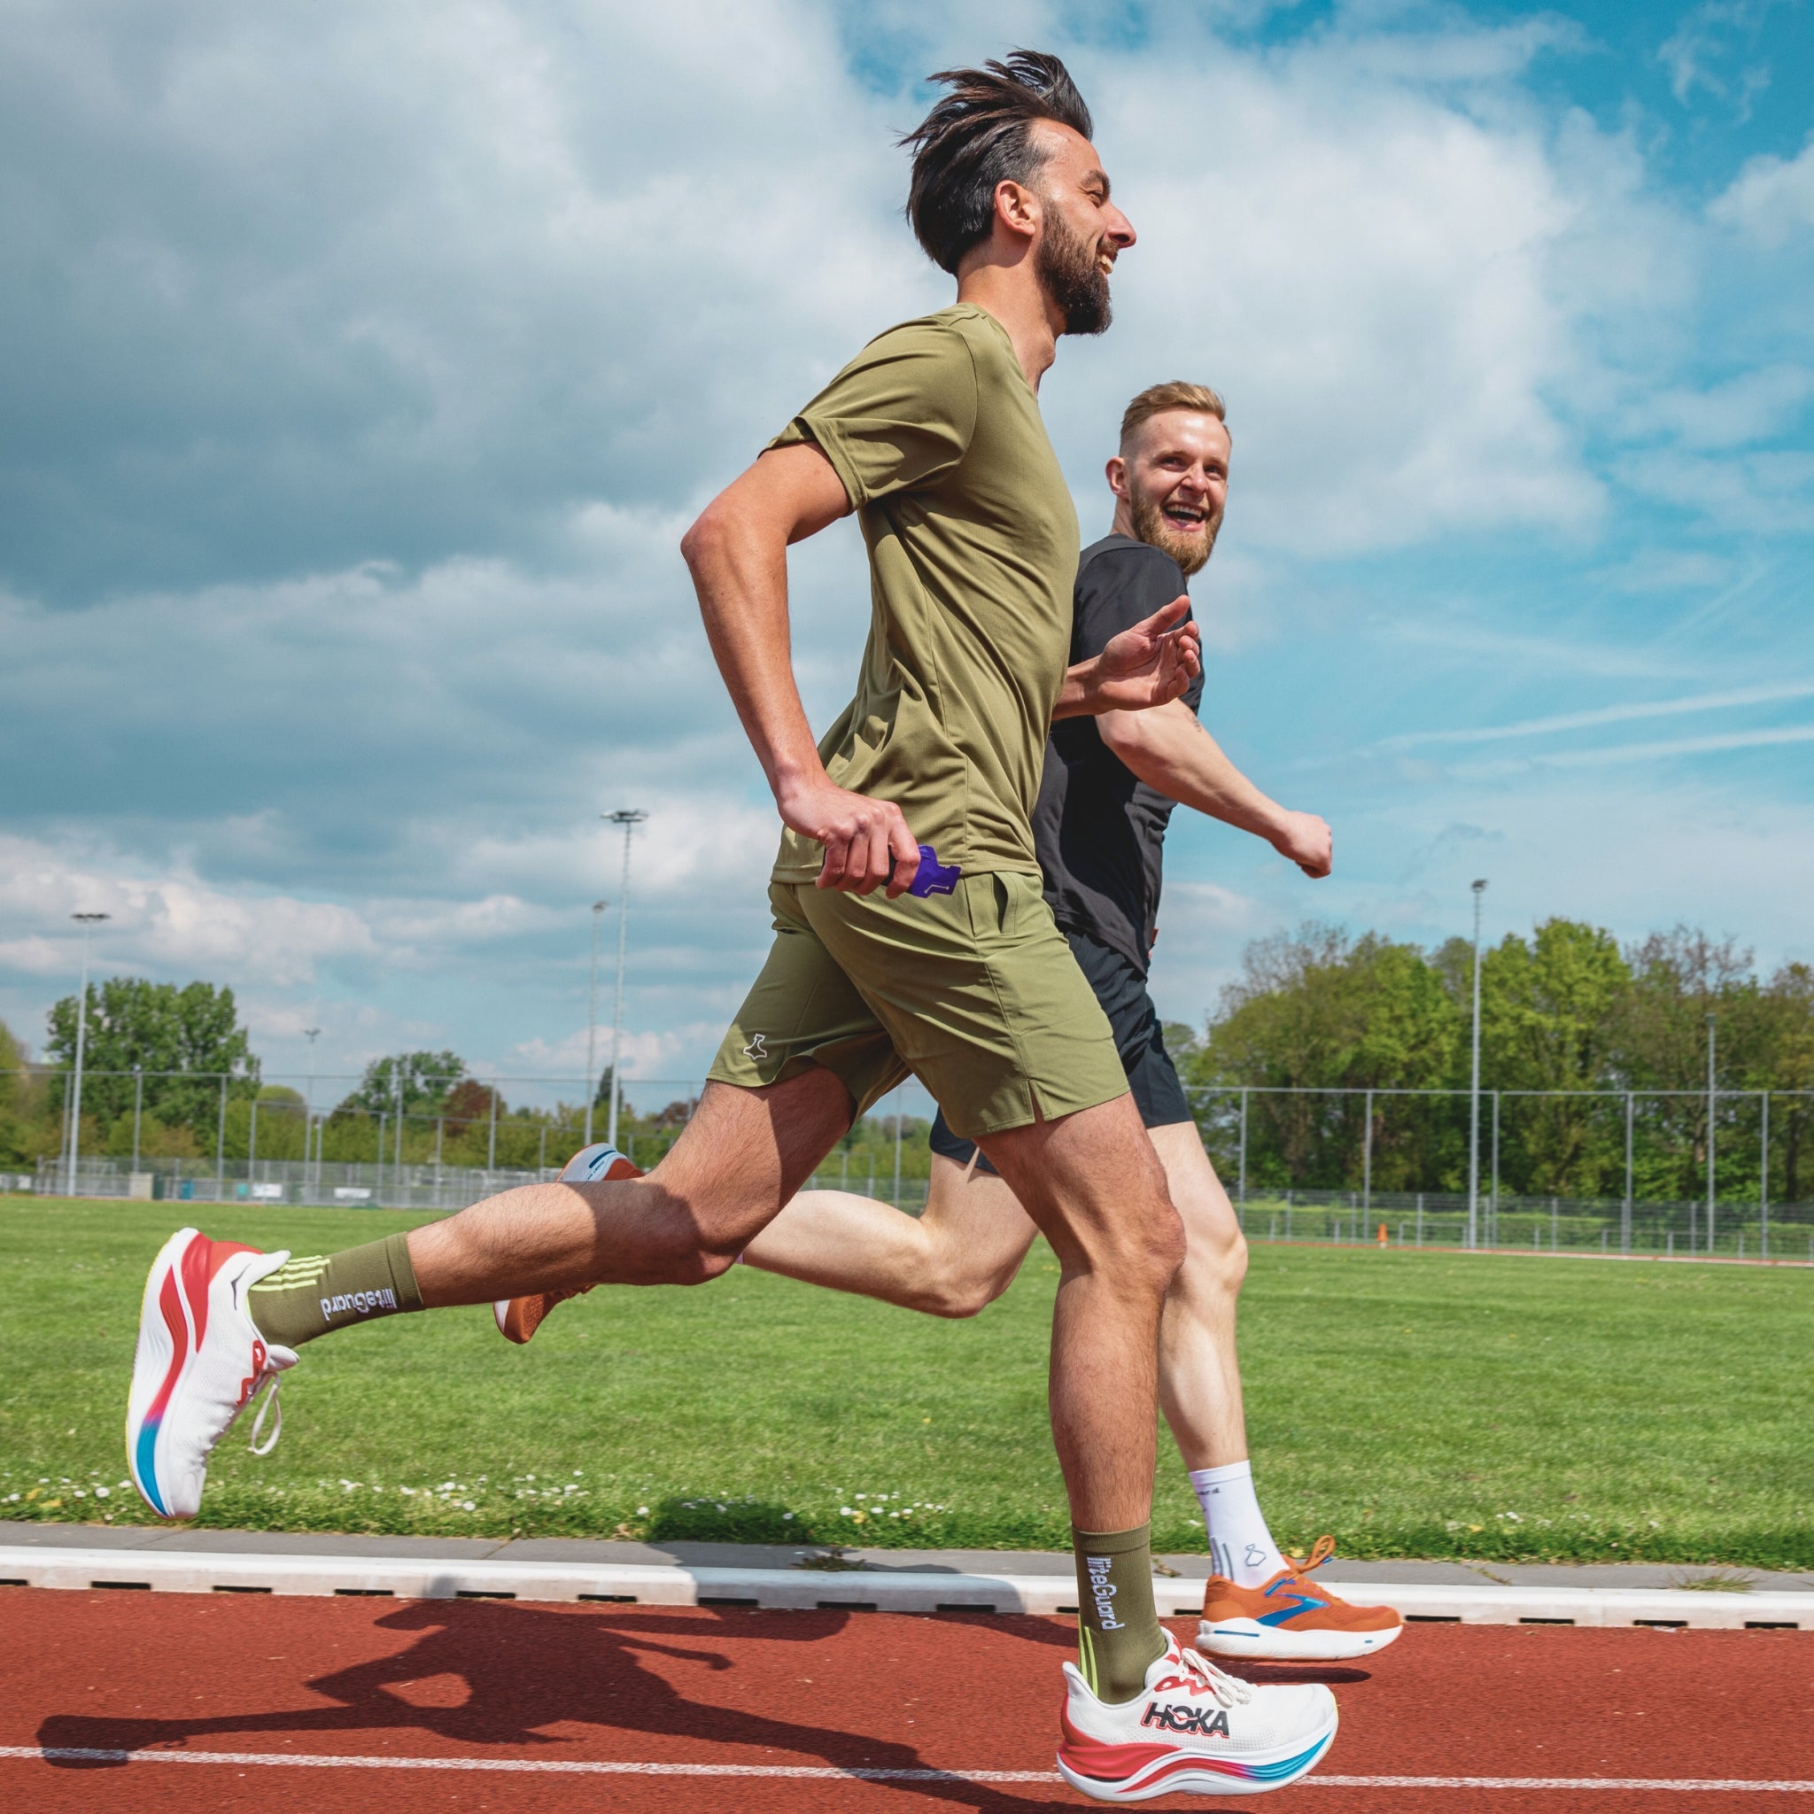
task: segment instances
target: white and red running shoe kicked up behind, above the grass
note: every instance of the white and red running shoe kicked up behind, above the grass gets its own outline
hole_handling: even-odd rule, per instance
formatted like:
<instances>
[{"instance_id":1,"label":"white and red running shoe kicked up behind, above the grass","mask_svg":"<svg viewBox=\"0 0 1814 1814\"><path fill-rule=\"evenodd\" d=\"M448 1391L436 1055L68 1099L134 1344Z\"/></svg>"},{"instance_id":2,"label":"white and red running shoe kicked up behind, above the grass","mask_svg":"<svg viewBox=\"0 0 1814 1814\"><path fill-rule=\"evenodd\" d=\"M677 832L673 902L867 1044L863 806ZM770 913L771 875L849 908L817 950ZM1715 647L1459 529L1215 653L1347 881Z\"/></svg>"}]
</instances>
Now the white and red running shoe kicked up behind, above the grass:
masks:
<instances>
[{"instance_id":1,"label":"white and red running shoe kicked up behind, above the grass","mask_svg":"<svg viewBox=\"0 0 1814 1814\"><path fill-rule=\"evenodd\" d=\"M125 1458L160 1518L192 1518L201 1509L209 1453L267 1380L252 1453L268 1455L278 1442L281 1409L270 1440L259 1444L258 1435L296 1351L258 1333L245 1293L288 1257L178 1228L151 1263L125 1402Z\"/></svg>"}]
</instances>

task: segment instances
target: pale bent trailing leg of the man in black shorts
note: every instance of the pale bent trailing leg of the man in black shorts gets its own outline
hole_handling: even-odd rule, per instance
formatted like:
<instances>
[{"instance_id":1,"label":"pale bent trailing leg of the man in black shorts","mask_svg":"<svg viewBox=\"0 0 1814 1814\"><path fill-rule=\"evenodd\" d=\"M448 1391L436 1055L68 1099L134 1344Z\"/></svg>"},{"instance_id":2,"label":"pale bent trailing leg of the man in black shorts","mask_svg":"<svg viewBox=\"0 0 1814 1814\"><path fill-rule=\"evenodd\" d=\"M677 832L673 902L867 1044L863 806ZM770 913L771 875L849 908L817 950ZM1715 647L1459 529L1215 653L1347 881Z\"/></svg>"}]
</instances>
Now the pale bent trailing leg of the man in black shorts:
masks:
<instances>
[{"instance_id":1,"label":"pale bent trailing leg of the man in black shorts","mask_svg":"<svg viewBox=\"0 0 1814 1814\"><path fill-rule=\"evenodd\" d=\"M802 1190L744 1259L903 1310L974 1317L1014 1282L1038 1232L992 1172L932 1154L920 1215L851 1190Z\"/></svg>"}]
</instances>

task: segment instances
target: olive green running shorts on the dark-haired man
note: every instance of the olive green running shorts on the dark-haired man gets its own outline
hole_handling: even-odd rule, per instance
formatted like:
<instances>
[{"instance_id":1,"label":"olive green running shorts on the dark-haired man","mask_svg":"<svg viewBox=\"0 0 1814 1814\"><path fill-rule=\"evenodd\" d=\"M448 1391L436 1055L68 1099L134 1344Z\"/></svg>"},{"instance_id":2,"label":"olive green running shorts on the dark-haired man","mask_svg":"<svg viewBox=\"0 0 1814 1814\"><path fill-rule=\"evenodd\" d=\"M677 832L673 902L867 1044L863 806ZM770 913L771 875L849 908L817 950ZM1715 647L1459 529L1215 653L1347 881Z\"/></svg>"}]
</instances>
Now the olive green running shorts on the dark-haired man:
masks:
<instances>
[{"instance_id":1,"label":"olive green running shorts on the dark-haired man","mask_svg":"<svg viewBox=\"0 0 1814 1814\"><path fill-rule=\"evenodd\" d=\"M863 1114L909 1072L967 1139L1126 1096L1108 1016L1036 874L898 900L769 883L775 947L718 1047L718 1083L824 1065Z\"/></svg>"}]
</instances>

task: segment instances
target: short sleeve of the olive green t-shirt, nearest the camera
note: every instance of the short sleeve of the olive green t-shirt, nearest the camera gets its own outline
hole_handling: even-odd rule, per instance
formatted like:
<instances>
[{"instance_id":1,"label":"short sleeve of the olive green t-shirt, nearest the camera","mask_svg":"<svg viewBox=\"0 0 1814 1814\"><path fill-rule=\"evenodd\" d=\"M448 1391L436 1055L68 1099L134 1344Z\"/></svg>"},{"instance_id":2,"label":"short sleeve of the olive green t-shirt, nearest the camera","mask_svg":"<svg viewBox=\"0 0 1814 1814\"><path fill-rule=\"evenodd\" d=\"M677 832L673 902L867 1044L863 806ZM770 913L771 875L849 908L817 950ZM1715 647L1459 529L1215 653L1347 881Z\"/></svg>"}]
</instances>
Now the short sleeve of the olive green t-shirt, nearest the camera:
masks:
<instances>
[{"instance_id":1,"label":"short sleeve of the olive green t-shirt, nearest the camera","mask_svg":"<svg viewBox=\"0 0 1814 1814\"><path fill-rule=\"evenodd\" d=\"M934 484L976 432L976 366L943 321L878 334L771 443L811 441L853 508Z\"/></svg>"}]
</instances>

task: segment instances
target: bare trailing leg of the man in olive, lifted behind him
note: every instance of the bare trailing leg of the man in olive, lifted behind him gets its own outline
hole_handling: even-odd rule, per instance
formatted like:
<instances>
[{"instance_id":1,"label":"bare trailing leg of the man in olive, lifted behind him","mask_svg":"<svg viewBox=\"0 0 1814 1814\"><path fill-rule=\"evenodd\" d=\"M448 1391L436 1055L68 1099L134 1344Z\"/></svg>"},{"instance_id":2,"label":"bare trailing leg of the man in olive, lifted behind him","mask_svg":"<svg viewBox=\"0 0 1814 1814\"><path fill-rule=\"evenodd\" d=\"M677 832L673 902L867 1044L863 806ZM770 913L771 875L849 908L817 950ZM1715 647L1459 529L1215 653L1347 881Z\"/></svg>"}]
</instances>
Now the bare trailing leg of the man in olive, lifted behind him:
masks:
<instances>
[{"instance_id":1,"label":"bare trailing leg of the man in olive, lifted behind him","mask_svg":"<svg viewBox=\"0 0 1814 1814\"><path fill-rule=\"evenodd\" d=\"M698 1284L729 1266L851 1125L820 1067L766 1090L707 1083L648 1175L526 1185L410 1234L423 1302L488 1304L575 1284Z\"/></svg>"}]
</instances>

